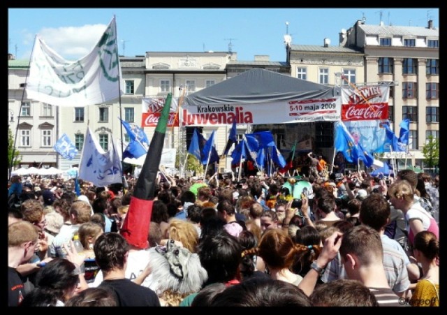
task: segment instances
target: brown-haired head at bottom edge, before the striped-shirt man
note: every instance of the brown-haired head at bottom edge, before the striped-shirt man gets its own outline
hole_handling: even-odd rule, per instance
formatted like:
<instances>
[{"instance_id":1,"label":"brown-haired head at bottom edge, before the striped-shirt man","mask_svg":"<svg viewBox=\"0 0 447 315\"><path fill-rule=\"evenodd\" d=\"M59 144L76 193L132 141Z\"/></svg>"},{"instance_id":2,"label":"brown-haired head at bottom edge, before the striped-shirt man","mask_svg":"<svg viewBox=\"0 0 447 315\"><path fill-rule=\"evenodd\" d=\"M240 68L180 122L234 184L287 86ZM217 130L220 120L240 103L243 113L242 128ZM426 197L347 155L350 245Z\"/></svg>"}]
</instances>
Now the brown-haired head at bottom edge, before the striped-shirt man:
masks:
<instances>
[{"instance_id":1,"label":"brown-haired head at bottom edge, before the striped-shirt man","mask_svg":"<svg viewBox=\"0 0 447 315\"><path fill-rule=\"evenodd\" d=\"M376 307L375 295L360 281L336 279L320 284L310 295L312 306L316 307Z\"/></svg>"}]
</instances>

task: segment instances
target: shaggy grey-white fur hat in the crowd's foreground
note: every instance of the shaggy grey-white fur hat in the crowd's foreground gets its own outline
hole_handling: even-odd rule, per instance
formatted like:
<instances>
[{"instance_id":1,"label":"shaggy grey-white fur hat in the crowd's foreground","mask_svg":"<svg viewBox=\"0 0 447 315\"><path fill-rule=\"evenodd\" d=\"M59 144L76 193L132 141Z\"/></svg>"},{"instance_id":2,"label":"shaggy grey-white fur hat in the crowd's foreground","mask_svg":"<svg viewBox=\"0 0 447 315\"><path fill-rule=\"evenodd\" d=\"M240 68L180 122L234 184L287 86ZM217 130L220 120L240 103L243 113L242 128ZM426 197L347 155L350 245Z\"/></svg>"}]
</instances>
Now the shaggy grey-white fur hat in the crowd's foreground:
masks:
<instances>
[{"instance_id":1,"label":"shaggy grey-white fur hat in the crowd's foreground","mask_svg":"<svg viewBox=\"0 0 447 315\"><path fill-rule=\"evenodd\" d=\"M180 294L195 293L208 279L198 254L177 246L174 240L168 240L166 247L152 247L149 251L157 293L168 290Z\"/></svg>"}]
</instances>

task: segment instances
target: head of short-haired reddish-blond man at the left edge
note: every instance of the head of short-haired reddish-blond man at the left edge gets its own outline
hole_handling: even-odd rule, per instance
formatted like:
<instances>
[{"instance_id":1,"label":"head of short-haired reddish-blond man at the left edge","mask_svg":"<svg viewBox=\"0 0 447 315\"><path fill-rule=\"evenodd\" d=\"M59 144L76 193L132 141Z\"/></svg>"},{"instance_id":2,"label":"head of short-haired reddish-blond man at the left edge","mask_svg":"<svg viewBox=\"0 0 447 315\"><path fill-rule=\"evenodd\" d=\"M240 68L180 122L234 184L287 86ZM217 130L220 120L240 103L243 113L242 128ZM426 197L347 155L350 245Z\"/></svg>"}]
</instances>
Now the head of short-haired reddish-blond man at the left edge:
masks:
<instances>
[{"instance_id":1,"label":"head of short-haired reddish-blond man at the left edge","mask_svg":"<svg viewBox=\"0 0 447 315\"><path fill-rule=\"evenodd\" d=\"M8 251L20 252L20 263L31 259L37 244L38 232L30 222L22 220L8 226Z\"/></svg>"}]
</instances>

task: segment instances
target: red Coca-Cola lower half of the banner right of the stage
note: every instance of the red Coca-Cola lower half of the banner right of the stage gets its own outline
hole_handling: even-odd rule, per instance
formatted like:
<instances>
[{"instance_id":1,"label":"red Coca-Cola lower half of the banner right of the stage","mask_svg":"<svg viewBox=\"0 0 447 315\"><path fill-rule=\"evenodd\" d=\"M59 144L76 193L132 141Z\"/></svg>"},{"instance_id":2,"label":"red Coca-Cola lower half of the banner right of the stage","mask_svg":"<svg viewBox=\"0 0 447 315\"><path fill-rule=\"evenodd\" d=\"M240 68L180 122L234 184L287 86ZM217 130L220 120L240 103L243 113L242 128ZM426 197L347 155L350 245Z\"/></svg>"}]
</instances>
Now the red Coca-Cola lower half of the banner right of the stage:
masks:
<instances>
[{"instance_id":1,"label":"red Coca-Cola lower half of the banner right of the stage","mask_svg":"<svg viewBox=\"0 0 447 315\"><path fill-rule=\"evenodd\" d=\"M342 120L388 119L388 103L342 105Z\"/></svg>"}]
</instances>

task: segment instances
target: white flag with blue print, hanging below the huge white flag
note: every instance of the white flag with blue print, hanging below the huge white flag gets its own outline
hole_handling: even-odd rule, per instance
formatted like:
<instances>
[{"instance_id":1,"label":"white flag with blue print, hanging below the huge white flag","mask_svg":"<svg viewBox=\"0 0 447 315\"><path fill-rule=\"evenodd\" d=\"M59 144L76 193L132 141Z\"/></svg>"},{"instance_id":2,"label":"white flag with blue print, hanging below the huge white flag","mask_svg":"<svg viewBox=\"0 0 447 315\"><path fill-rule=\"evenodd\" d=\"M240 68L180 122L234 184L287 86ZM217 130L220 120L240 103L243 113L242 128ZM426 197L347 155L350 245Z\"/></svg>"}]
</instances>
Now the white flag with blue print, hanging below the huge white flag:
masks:
<instances>
[{"instance_id":1,"label":"white flag with blue print, hanging below the huge white flag","mask_svg":"<svg viewBox=\"0 0 447 315\"><path fill-rule=\"evenodd\" d=\"M110 150L104 152L91 134L90 127L87 127L79 168L80 179L88 180L98 187L122 182L121 161L113 139L111 142Z\"/></svg>"}]
</instances>

